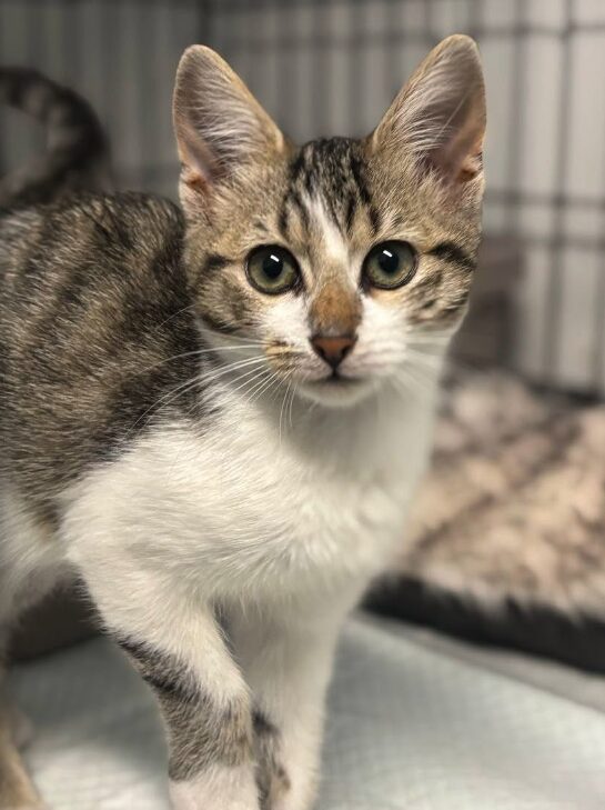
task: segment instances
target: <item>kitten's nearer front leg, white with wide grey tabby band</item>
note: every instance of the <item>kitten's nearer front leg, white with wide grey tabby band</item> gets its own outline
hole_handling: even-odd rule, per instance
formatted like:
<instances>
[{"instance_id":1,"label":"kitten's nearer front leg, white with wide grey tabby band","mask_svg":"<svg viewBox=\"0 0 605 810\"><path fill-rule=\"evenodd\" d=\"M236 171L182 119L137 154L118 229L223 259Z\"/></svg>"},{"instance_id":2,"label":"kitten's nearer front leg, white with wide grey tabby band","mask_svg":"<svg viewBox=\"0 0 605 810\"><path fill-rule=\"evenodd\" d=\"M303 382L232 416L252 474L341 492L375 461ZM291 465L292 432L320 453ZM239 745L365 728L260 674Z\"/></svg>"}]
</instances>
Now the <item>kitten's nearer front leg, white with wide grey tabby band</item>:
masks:
<instances>
[{"instance_id":1,"label":"kitten's nearer front leg, white with wide grey tabby band","mask_svg":"<svg viewBox=\"0 0 605 810\"><path fill-rule=\"evenodd\" d=\"M100 554L80 550L78 564L158 698L173 810L259 810L249 689L212 611L165 571L133 568L128 553Z\"/></svg>"}]
</instances>

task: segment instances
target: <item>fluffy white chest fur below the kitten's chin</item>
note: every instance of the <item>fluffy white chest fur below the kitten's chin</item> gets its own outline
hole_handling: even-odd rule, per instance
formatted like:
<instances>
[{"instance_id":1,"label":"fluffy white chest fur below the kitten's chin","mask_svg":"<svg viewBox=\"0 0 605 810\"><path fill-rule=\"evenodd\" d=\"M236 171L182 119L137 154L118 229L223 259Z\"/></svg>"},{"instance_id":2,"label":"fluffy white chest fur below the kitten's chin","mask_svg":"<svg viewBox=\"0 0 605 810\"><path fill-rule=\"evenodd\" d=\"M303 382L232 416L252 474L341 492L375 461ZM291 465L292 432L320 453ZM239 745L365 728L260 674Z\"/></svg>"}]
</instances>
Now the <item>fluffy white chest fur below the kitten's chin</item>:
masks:
<instances>
[{"instance_id":1,"label":"fluffy white chest fur below the kitten's chin","mask_svg":"<svg viewBox=\"0 0 605 810\"><path fill-rule=\"evenodd\" d=\"M432 402L301 411L281 436L270 412L225 404L204 431L164 427L91 473L69 510L75 547L85 536L128 549L206 597L304 596L380 570L426 459Z\"/></svg>"}]
</instances>

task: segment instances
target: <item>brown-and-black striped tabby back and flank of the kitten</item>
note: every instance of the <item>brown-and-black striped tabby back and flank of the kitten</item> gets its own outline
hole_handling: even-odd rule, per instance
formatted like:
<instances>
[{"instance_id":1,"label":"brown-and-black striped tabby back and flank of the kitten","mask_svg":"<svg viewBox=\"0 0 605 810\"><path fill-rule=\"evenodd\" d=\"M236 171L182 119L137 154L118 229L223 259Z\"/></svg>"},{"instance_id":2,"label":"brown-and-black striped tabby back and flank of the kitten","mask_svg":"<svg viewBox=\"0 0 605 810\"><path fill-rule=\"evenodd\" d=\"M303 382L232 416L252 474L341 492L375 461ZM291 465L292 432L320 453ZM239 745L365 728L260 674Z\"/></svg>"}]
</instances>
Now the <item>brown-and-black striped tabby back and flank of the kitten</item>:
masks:
<instances>
[{"instance_id":1,"label":"brown-and-black striped tabby back and flank of the kitten","mask_svg":"<svg viewBox=\"0 0 605 810\"><path fill-rule=\"evenodd\" d=\"M147 194L0 216L0 432L11 476L37 489L64 482L191 376L182 231L179 209Z\"/></svg>"}]
</instances>

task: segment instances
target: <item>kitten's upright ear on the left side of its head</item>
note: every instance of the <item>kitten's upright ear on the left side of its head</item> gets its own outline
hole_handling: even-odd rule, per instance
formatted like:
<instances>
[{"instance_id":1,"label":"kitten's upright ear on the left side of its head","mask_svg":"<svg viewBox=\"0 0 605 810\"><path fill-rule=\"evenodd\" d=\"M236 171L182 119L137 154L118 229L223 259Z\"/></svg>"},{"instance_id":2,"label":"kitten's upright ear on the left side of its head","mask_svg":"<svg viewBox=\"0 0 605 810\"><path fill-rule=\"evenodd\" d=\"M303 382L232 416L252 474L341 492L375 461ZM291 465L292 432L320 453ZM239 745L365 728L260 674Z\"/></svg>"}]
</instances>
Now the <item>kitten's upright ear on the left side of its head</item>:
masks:
<instances>
[{"instance_id":1,"label":"kitten's upright ear on the left side of its head","mask_svg":"<svg viewBox=\"0 0 605 810\"><path fill-rule=\"evenodd\" d=\"M284 149L284 138L218 53L191 46L177 71L173 121L185 211L206 207L233 181Z\"/></svg>"}]
</instances>

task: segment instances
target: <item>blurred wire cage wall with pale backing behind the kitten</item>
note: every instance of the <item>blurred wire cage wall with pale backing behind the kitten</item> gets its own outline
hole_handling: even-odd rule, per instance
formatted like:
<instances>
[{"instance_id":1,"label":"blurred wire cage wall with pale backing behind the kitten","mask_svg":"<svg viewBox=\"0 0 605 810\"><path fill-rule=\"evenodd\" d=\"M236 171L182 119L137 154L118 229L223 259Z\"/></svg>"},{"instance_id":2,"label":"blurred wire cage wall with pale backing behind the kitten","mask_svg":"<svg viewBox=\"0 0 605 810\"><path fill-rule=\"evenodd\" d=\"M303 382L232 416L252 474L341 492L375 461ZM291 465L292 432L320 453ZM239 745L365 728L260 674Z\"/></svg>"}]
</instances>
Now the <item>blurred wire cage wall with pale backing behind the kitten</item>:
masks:
<instances>
[{"instance_id":1,"label":"blurred wire cage wall with pale backing behind the kitten","mask_svg":"<svg viewBox=\"0 0 605 810\"><path fill-rule=\"evenodd\" d=\"M496 352L538 383L603 394L605 3L0 0L2 61L77 88L111 133L119 184L172 196L171 91L188 44L222 53L304 141L370 131L427 49L452 32L475 37L483 54L485 229L495 240L484 263L514 299L513 323L482 321L474 352ZM42 143L20 118L2 119L4 168Z\"/></svg>"}]
</instances>

